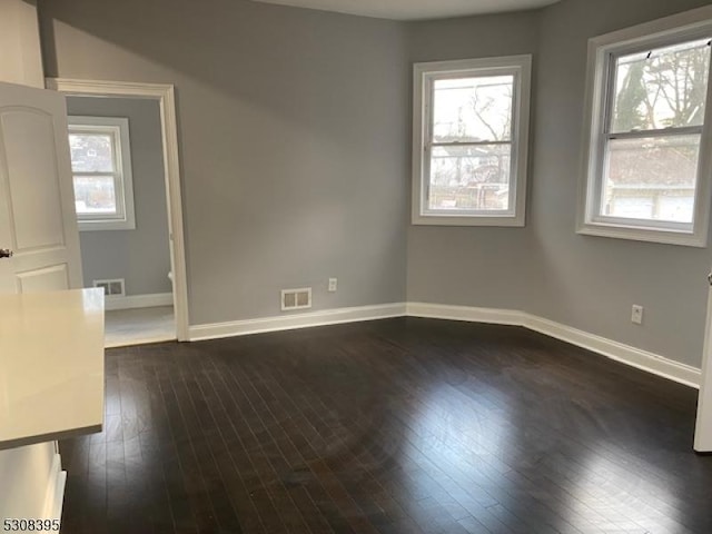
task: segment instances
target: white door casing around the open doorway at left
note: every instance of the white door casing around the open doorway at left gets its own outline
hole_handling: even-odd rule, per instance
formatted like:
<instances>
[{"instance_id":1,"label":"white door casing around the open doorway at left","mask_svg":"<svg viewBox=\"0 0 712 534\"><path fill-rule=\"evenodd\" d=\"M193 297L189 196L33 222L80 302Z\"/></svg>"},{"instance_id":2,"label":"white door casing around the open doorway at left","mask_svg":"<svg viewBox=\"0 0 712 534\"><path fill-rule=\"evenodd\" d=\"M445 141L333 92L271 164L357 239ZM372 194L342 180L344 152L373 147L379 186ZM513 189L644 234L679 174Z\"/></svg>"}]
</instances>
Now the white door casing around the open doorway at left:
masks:
<instances>
[{"instance_id":1,"label":"white door casing around the open doorway at left","mask_svg":"<svg viewBox=\"0 0 712 534\"><path fill-rule=\"evenodd\" d=\"M168 207L168 233L170 266L172 271L176 337L189 340L188 280L186 271L186 246L182 225L182 195L180 188L180 158L178 155L178 123L176 96L171 83L141 83L107 80L80 80L71 78L47 78L47 89L66 96L105 98L144 98L158 102L160 108L161 138L164 147L164 175Z\"/></svg>"}]
</instances>

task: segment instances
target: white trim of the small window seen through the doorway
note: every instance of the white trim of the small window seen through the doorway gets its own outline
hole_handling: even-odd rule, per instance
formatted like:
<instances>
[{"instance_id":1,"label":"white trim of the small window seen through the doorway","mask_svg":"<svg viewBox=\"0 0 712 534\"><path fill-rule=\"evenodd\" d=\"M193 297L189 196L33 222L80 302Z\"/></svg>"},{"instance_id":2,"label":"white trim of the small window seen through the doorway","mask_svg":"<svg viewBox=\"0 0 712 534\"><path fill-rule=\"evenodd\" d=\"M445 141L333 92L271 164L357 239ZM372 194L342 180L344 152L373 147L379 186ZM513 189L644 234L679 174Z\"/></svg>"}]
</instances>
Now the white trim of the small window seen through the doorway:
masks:
<instances>
[{"instance_id":1,"label":"white trim of the small window seen through the doorway","mask_svg":"<svg viewBox=\"0 0 712 534\"><path fill-rule=\"evenodd\" d=\"M123 217L120 219L101 219L77 216L77 225L79 227L79 231L136 229L136 211L134 208L134 177L131 172L131 144L129 140L129 119L122 117L69 116L68 122L70 132L72 132L72 127L75 126L109 126L118 128L119 131L119 137L117 139L117 164L120 167L120 179L115 182L115 187L117 191L117 202L123 204Z\"/></svg>"}]
</instances>

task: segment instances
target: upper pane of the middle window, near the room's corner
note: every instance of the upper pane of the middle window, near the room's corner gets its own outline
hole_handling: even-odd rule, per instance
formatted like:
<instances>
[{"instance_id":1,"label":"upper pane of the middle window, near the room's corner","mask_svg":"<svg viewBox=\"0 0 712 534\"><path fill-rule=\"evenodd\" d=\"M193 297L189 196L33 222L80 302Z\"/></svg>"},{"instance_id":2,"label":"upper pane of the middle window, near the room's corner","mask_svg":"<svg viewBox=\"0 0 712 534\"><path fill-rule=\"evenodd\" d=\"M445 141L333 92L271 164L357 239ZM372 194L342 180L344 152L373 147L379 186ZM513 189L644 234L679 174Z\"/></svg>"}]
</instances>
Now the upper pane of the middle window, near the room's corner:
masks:
<instances>
[{"instance_id":1,"label":"upper pane of the middle window, near the room's corner","mask_svg":"<svg viewBox=\"0 0 712 534\"><path fill-rule=\"evenodd\" d=\"M433 141L508 141L514 76L435 80Z\"/></svg>"}]
</instances>

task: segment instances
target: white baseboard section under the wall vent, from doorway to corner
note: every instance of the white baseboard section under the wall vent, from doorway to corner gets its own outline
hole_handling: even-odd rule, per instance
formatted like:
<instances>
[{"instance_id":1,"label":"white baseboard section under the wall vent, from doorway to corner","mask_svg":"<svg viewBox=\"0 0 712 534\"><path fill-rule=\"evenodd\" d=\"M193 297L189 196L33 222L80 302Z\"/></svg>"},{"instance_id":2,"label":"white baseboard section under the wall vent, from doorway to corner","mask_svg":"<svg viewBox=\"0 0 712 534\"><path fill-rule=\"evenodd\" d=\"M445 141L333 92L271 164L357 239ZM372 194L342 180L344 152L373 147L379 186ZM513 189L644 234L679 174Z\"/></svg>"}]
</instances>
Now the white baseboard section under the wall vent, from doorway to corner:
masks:
<instances>
[{"instance_id":1,"label":"white baseboard section under the wall vent, from doorway to corner","mask_svg":"<svg viewBox=\"0 0 712 534\"><path fill-rule=\"evenodd\" d=\"M325 309L322 312L310 312L306 314L196 325L189 327L188 336L191 342L217 339L221 337L245 336L248 334L259 334L264 332L290 330L312 326L326 326L360 320L403 317L405 315L405 303Z\"/></svg>"}]
</instances>

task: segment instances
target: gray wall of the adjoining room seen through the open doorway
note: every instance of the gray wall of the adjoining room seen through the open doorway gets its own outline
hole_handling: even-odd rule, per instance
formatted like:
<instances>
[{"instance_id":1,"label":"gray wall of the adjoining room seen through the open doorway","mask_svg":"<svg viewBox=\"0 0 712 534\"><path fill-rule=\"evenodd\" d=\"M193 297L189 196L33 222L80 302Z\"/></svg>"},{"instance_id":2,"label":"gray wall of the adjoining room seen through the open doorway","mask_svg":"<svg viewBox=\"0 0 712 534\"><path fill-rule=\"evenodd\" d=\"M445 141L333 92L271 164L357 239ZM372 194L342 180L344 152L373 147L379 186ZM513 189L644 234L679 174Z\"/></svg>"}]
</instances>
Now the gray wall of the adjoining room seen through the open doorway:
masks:
<instances>
[{"instance_id":1,"label":"gray wall of the adjoining room seen through the open doorway","mask_svg":"<svg viewBox=\"0 0 712 534\"><path fill-rule=\"evenodd\" d=\"M155 100L68 97L69 115L129 119L136 229L81 231L85 286L125 278L127 295L172 290L160 110Z\"/></svg>"}]
</instances>

